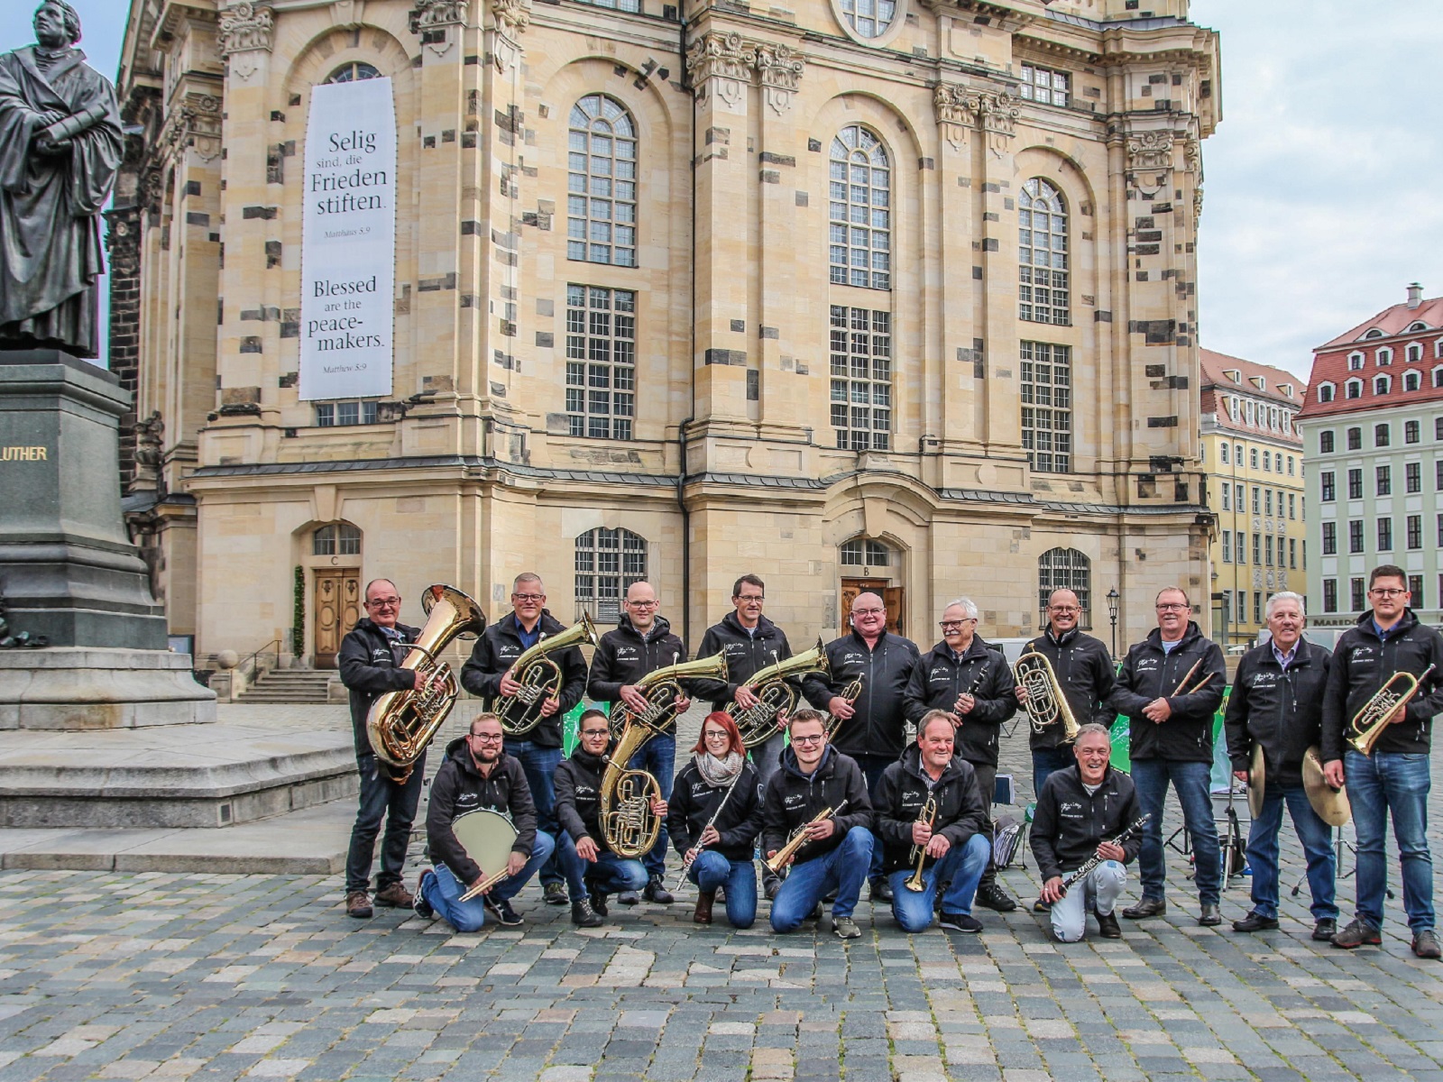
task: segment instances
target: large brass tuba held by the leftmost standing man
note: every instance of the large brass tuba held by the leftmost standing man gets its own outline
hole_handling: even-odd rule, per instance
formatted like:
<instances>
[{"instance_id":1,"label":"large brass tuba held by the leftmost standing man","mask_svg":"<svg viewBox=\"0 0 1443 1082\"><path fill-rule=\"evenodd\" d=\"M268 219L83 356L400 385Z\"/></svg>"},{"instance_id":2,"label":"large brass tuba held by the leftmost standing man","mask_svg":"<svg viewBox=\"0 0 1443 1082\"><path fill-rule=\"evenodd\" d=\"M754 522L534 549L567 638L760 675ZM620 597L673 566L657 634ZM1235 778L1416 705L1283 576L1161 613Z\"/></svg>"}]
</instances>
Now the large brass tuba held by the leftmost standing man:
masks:
<instances>
[{"instance_id":1,"label":"large brass tuba held by the leftmost standing man","mask_svg":"<svg viewBox=\"0 0 1443 1082\"><path fill-rule=\"evenodd\" d=\"M475 638L486 630L486 613L453 586L427 586L421 593L421 609L426 626L416 642L407 643L401 668L434 679L424 692L414 688L387 691L371 704L365 720L371 750L382 763L395 767L392 776L397 783L411 776L411 765L421 757L460 694L452 667L436 655L452 639Z\"/></svg>"}]
</instances>

